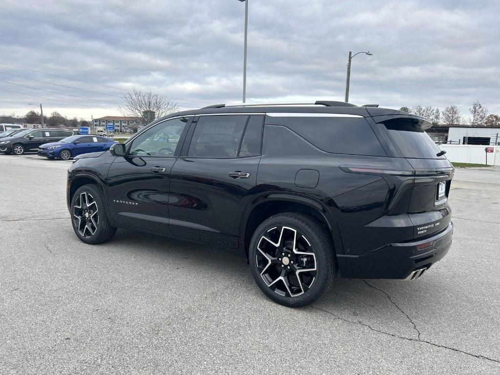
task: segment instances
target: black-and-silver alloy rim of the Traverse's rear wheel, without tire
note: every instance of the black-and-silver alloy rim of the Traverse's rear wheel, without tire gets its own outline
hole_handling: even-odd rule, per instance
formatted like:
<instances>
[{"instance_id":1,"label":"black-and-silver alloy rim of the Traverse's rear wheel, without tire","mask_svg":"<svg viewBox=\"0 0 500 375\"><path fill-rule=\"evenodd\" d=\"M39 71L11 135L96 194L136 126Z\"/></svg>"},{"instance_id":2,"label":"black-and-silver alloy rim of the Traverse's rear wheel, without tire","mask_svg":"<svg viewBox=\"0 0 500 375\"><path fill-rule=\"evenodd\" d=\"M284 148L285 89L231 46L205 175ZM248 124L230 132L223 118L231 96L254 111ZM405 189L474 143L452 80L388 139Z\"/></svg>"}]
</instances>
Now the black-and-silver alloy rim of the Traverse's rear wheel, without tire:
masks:
<instances>
[{"instance_id":1,"label":"black-and-silver alloy rim of the Traverse's rear wheel, without tire","mask_svg":"<svg viewBox=\"0 0 500 375\"><path fill-rule=\"evenodd\" d=\"M285 297L305 293L316 277L316 256L296 229L275 226L257 244L256 264L267 287Z\"/></svg>"}]
</instances>

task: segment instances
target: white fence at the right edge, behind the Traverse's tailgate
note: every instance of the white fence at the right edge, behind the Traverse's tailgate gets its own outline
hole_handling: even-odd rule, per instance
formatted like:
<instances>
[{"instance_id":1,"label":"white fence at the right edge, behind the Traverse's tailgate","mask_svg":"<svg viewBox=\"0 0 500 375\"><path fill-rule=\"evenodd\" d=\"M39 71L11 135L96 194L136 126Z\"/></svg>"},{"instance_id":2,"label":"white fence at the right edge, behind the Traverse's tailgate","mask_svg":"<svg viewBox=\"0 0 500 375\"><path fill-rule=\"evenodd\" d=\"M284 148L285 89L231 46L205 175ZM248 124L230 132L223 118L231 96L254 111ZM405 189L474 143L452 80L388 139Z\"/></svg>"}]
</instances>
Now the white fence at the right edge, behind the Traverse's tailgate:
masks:
<instances>
[{"instance_id":1,"label":"white fence at the right edge, behind the Traverse's tailgate","mask_svg":"<svg viewBox=\"0 0 500 375\"><path fill-rule=\"evenodd\" d=\"M446 151L446 157L451 162L484 164L486 162L485 147L492 147L488 152L488 165L500 165L500 146L484 146L471 144L439 144Z\"/></svg>"}]
</instances>

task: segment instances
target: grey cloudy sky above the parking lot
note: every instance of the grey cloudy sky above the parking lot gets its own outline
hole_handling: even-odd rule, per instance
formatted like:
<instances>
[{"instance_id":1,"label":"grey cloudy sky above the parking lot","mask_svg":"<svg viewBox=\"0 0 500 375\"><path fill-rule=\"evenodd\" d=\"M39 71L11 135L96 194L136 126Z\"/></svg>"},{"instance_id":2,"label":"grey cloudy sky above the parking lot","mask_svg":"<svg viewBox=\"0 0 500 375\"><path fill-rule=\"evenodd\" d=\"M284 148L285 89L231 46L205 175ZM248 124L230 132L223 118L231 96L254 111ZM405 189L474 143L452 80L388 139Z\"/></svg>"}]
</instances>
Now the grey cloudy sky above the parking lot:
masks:
<instances>
[{"instance_id":1,"label":"grey cloudy sky above the parking lot","mask_svg":"<svg viewBox=\"0 0 500 375\"><path fill-rule=\"evenodd\" d=\"M119 114L128 89L181 108L241 101L237 0L2 0L0 113ZM247 101L455 104L500 113L500 2L249 0Z\"/></svg>"}]
</instances>

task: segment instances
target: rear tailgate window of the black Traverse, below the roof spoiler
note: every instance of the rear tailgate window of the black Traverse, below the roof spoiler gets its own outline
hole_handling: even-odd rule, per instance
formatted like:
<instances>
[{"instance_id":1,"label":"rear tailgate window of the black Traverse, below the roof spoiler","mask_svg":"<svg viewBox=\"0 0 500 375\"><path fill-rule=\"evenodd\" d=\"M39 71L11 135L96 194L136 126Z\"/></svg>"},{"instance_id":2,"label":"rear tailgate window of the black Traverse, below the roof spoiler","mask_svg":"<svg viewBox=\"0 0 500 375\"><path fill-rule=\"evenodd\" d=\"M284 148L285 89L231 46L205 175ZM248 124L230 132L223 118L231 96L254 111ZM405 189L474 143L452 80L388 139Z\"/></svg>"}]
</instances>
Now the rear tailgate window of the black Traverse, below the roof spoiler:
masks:
<instances>
[{"instance_id":1,"label":"rear tailgate window of the black Traverse, below the roof spoiler","mask_svg":"<svg viewBox=\"0 0 500 375\"><path fill-rule=\"evenodd\" d=\"M436 156L440 149L423 130L421 120L417 118L391 118L382 123L404 157L419 159L445 158L444 156Z\"/></svg>"}]
</instances>

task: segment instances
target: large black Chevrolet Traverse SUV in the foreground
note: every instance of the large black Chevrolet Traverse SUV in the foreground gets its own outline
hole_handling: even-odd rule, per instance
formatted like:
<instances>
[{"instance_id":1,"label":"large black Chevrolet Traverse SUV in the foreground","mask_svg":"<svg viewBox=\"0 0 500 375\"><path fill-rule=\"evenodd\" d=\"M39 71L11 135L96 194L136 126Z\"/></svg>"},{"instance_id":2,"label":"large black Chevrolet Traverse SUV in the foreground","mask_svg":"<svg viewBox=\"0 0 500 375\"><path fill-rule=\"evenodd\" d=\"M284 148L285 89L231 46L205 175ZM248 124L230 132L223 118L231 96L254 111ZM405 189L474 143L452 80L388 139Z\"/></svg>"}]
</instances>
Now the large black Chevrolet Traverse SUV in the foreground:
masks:
<instances>
[{"instance_id":1,"label":"large black Chevrolet Traverse SUV in the foreground","mask_svg":"<svg viewBox=\"0 0 500 375\"><path fill-rule=\"evenodd\" d=\"M117 227L246 252L262 291L300 306L334 277L419 277L451 245L453 167L406 112L316 101L213 105L76 157L78 238Z\"/></svg>"}]
</instances>

